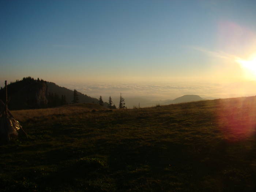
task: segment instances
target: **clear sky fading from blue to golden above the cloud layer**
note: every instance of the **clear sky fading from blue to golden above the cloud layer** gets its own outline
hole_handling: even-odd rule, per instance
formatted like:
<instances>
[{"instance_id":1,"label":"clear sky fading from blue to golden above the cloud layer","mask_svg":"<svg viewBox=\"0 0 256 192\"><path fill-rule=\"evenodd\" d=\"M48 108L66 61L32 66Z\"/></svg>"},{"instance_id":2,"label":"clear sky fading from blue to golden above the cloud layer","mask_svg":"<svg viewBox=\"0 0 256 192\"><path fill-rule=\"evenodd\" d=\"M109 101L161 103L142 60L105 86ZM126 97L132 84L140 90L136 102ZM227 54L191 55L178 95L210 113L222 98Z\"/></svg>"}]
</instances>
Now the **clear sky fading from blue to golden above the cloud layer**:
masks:
<instances>
[{"instance_id":1,"label":"clear sky fading from blue to golden above the cloud layer","mask_svg":"<svg viewBox=\"0 0 256 192\"><path fill-rule=\"evenodd\" d=\"M250 0L1 0L0 82L255 81L255 18Z\"/></svg>"}]
</instances>

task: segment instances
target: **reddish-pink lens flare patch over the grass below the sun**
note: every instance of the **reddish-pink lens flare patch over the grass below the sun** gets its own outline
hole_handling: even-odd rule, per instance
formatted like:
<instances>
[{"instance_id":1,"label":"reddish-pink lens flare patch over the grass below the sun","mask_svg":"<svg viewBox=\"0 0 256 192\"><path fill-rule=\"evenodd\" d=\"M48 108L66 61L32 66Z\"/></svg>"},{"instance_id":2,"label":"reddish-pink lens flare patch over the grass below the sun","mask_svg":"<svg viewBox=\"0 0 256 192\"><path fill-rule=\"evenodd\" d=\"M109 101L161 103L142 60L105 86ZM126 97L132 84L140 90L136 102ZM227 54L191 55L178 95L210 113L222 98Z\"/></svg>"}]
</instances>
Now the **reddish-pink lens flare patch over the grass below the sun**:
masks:
<instances>
[{"instance_id":1,"label":"reddish-pink lens flare patch over the grass below the sun","mask_svg":"<svg viewBox=\"0 0 256 192\"><path fill-rule=\"evenodd\" d=\"M226 140L237 142L255 134L256 97L221 99L219 106L216 114Z\"/></svg>"}]
</instances>

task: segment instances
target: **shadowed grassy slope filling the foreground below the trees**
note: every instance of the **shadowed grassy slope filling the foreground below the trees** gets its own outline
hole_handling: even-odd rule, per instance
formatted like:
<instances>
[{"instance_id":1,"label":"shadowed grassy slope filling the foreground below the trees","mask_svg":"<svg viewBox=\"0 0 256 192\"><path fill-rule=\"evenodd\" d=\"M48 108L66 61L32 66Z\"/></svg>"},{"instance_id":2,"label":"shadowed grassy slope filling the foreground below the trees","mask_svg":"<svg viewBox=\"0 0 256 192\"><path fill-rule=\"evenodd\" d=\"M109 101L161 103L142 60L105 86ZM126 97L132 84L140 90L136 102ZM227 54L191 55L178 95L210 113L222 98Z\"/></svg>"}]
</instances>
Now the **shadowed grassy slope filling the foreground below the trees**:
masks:
<instances>
[{"instance_id":1,"label":"shadowed grassy slope filling the foreground below the trees","mask_svg":"<svg viewBox=\"0 0 256 192\"><path fill-rule=\"evenodd\" d=\"M29 138L0 146L0 191L255 190L255 97L95 106L14 111Z\"/></svg>"}]
</instances>

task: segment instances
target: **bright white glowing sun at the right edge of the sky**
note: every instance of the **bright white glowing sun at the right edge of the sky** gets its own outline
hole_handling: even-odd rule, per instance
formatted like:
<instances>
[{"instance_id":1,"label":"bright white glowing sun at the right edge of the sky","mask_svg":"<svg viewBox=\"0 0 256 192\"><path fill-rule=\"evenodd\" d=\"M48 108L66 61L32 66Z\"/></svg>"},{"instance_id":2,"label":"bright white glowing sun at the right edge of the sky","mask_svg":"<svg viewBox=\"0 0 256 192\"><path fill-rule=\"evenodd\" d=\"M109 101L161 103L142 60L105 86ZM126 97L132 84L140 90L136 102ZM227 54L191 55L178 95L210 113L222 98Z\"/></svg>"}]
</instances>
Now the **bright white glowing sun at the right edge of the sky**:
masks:
<instances>
[{"instance_id":1,"label":"bright white glowing sun at the right edge of the sky","mask_svg":"<svg viewBox=\"0 0 256 192\"><path fill-rule=\"evenodd\" d=\"M236 62L244 69L247 78L256 80L256 55L249 60L236 59Z\"/></svg>"}]
</instances>

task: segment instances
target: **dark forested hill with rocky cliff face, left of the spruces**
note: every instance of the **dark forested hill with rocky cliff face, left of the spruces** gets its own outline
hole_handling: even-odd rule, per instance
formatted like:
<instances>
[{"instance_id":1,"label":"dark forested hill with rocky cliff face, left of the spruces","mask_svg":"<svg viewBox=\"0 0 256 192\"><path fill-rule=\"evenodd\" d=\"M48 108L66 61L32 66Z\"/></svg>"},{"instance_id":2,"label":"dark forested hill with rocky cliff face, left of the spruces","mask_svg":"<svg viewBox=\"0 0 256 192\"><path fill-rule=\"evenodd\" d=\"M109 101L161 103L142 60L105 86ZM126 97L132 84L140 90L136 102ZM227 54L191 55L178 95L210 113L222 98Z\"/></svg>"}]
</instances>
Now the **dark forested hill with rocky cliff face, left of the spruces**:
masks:
<instances>
[{"instance_id":1,"label":"dark forested hill with rocky cliff face, left of the spruces","mask_svg":"<svg viewBox=\"0 0 256 192\"><path fill-rule=\"evenodd\" d=\"M11 82L7 87L8 99L10 99L8 108L11 110L55 107L72 103L74 98L74 90L31 77ZM79 103L98 103L97 98L77 93ZM3 88L0 89L0 99L5 102L5 89Z\"/></svg>"}]
</instances>

